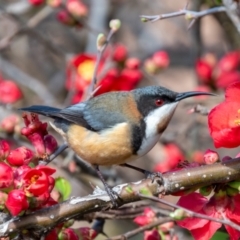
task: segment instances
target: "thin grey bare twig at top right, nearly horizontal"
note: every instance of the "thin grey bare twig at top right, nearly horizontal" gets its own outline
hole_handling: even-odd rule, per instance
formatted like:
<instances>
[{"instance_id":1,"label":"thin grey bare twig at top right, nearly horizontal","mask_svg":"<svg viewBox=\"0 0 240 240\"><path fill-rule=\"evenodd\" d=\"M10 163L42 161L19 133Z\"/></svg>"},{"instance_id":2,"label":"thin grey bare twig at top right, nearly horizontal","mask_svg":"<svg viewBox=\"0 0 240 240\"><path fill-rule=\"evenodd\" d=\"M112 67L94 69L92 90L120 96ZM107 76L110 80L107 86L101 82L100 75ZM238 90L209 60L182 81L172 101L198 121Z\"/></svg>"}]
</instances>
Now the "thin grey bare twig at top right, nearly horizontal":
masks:
<instances>
[{"instance_id":1,"label":"thin grey bare twig at top right, nearly horizontal","mask_svg":"<svg viewBox=\"0 0 240 240\"><path fill-rule=\"evenodd\" d=\"M153 15L153 16L141 15L140 18L143 22L155 22L158 20L166 19L166 18L173 18L173 17L185 15L186 19L190 19L193 21L197 18L206 16L209 14L213 14L213 13L218 13L218 12L226 12L226 8L224 6L220 6L220 7L206 9L206 10L203 10L200 12L190 11L190 10L187 10L186 8L184 8L178 12L165 13L165 14L160 14L160 15Z\"/></svg>"}]
</instances>

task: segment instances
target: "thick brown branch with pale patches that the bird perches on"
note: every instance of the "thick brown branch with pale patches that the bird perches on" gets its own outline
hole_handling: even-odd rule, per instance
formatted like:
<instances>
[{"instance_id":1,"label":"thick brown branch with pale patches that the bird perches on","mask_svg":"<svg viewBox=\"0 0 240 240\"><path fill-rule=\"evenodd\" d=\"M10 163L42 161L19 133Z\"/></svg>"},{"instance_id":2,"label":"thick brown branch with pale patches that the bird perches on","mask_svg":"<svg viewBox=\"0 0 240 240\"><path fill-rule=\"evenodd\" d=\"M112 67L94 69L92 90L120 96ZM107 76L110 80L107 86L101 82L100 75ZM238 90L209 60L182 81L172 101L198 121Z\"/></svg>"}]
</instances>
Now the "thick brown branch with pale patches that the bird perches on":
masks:
<instances>
[{"instance_id":1,"label":"thick brown branch with pale patches that the bird perches on","mask_svg":"<svg viewBox=\"0 0 240 240\"><path fill-rule=\"evenodd\" d=\"M119 195L118 203L121 206L139 201L141 198L138 193L143 191L148 191L152 195L166 195L214 183L227 183L239 178L240 158L236 158L224 163L165 173L163 174L163 183L160 178L156 178L153 182L151 179L144 179L135 183L118 185L113 190ZM0 224L0 237L23 229L44 231L46 227L55 226L66 219L81 218L84 214L106 210L111 206L111 200L106 192L97 188L92 195L73 197L61 204L12 218Z\"/></svg>"}]
</instances>

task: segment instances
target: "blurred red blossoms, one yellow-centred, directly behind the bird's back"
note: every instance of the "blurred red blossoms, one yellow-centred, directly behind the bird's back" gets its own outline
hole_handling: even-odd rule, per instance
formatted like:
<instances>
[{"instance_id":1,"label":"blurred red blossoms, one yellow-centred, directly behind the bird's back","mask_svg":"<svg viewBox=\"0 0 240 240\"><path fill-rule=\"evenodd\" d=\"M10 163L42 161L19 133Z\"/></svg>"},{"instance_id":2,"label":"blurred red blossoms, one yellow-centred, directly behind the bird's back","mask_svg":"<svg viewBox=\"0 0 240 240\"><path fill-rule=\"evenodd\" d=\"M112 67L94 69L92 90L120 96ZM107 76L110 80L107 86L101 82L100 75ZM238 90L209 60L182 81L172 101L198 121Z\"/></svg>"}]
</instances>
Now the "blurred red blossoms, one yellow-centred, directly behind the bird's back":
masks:
<instances>
[{"instance_id":1,"label":"blurred red blossoms, one yellow-centred, directly behind the bird's back","mask_svg":"<svg viewBox=\"0 0 240 240\"><path fill-rule=\"evenodd\" d=\"M112 62L113 67L105 69L105 62ZM92 82L96 55L82 53L73 57L67 67L67 90L75 92L72 103L78 103L83 99ZM110 91L129 91L136 87L142 79L140 60L129 58L127 49L122 44L116 44L111 54L107 51L102 58L97 76L98 90L95 96Z\"/></svg>"}]
</instances>

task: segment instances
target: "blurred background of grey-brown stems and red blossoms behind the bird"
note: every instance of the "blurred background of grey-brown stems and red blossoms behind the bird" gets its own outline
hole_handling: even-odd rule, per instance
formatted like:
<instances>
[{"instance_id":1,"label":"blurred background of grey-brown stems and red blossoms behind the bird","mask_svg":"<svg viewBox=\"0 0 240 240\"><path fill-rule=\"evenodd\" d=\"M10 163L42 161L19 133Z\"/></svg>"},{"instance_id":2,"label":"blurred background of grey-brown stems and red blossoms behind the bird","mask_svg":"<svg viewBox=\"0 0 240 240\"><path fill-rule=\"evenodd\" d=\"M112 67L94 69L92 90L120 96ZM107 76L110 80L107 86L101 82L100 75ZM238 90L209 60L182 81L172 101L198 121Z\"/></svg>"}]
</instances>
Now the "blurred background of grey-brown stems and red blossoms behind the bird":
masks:
<instances>
[{"instance_id":1,"label":"blurred background of grey-brown stems and red blossoms behind the bird","mask_svg":"<svg viewBox=\"0 0 240 240\"><path fill-rule=\"evenodd\" d=\"M73 2L0 0L0 78L17 84L1 85L0 81L0 99L1 95L12 94L10 100L1 100L1 138L9 139L13 146L29 145L19 137L23 126L19 107L66 107L86 99L96 61L96 39L99 33L108 35L111 19L119 19L121 27L99 65L97 78L102 89L97 94L147 85L217 94L181 102L160 142L133 164L151 171L168 171L180 158L201 161L207 149L215 150L207 117L194 113L194 108L200 104L200 109L207 112L224 99L223 90L230 82L240 80L240 61L235 64L234 56L228 55L240 47L239 31L224 12L198 18L190 28L191 16L143 22L140 15L178 12L187 3L187 9L193 11L222 4L214 0L86 0L71 6ZM239 14L239 3L233 3ZM60 145L61 137L49 130ZM221 157L238 154L237 149L218 152ZM91 168L71 150L52 164L58 168L58 175L71 182L73 196L91 193L89 183L102 186ZM118 166L102 171L112 186L144 177ZM177 201L176 197L167 199ZM113 236L135 227L131 220L107 220L104 230Z\"/></svg>"}]
</instances>

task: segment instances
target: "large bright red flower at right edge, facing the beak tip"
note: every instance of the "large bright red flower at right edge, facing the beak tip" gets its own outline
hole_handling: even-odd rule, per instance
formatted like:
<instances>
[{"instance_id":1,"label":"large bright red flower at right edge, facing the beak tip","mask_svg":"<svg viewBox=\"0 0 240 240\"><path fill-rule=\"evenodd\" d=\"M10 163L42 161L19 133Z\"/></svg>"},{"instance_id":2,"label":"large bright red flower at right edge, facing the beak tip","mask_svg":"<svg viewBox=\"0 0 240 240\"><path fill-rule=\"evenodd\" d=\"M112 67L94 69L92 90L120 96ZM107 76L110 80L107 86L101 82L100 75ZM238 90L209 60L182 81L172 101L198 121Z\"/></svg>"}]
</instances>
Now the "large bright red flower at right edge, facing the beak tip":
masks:
<instances>
[{"instance_id":1,"label":"large bright red flower at right edge, facing the beak tip","mask_svg":"<svg viewBox=\"0 0 240 240\"><path fill-rule=\"evenodd\" d=\"M240 82L230 85L226 100L208 115L208 125L215 147L234 148L240 145Z\"/></svg>"}]
</instances>

